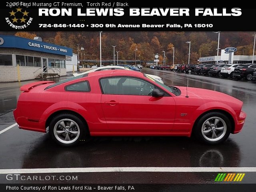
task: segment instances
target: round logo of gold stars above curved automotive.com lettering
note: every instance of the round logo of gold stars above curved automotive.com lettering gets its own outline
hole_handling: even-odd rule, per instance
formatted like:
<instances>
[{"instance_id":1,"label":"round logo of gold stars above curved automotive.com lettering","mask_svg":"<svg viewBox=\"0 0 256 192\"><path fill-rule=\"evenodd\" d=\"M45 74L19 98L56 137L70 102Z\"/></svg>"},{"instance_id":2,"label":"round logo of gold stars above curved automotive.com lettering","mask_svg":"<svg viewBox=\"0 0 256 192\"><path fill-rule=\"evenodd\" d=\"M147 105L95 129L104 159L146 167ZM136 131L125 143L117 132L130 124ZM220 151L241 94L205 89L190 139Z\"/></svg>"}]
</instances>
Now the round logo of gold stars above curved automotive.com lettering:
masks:
<instances>
[{"instance_id":1,"label":"round logo of gold stars above curved automotive.com lettering","mask_svg":"<svg viewBox=\"0 0 256 192\"><path fill-rule=\"evenodd\" d=\"M12 7L8 13L8 17L5 18L7 24L14 29L24 29L29 26L33 20L30 17L30 12L26 8Z\"/></svg>"}]
</instances>

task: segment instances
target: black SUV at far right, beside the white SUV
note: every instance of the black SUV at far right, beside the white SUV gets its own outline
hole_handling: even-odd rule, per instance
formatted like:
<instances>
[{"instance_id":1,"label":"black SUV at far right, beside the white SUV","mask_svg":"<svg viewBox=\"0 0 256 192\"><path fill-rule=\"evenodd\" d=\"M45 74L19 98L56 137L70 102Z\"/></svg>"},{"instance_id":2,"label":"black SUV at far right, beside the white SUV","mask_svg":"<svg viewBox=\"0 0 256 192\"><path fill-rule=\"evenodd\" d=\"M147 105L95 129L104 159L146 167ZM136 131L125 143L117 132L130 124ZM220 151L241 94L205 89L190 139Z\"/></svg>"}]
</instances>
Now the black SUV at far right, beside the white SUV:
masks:
<instances>
[{"instance_id":1,"label":"black SUV at far right, beside the white SUV","mask_svg":"<svg viewBox=\"0 0 256 192\"><path fill-rule=\"evenodd\" d=\"M233 76L239 79L246 78L246 80L250 81L253 78L255 69L256 64L239 65L235 68Z\"/></svg>"}]
</instances>

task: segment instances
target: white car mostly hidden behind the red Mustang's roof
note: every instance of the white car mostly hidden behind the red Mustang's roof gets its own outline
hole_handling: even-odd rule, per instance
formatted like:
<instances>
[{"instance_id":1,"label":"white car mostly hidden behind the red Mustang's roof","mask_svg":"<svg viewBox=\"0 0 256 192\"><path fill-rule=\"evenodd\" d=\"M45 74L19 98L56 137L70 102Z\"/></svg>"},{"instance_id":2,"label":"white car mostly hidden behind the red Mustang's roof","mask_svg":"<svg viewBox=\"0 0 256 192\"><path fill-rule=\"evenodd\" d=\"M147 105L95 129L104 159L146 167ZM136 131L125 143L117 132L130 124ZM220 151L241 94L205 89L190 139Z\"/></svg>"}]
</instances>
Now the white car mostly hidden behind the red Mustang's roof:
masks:
<instances>
[{"instance_id":1,"label":"white car mostly hidden behind the red Mustang's roof","mask_svg":"<svg viewBox=\"0 0 256 192\"><path fill-rule=\"evenodd\" d=\"M86 72L83 72L83 73L74 73L73 75L75 77L77 77L77 76L85 75L85 74L88 74L88 73L91 73L91 72L106 71L106 70L131 70L131 69L127 68L127 67L122 67L122 66L103 66L103 67L98 67L98 68L95 68L95 69L92 69L92 70L89 70L89 71L86 71ZM146 75L155 79L155 80L157 80L158 82L164 84L162 78L160 78L159 76L151 75L151 74L146 74Z\"/></svg>"}]
</instances>

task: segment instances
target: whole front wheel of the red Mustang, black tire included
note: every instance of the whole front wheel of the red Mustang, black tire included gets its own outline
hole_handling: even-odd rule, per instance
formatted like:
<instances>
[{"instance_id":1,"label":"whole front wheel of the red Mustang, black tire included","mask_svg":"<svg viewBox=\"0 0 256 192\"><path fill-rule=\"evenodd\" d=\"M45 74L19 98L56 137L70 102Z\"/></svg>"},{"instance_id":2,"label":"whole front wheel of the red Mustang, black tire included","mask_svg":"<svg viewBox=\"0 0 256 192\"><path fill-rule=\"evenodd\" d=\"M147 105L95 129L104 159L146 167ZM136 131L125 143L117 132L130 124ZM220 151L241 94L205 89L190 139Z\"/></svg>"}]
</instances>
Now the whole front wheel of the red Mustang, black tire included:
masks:
<instances>
[{"instance_id":1,"label":"whole front wheel of the red Mustang, black tire included","mask_svg":"<svg viewBox=\"0 0 256 192\"><path fill-rule=\"evenodd\" d=\"M213 126L215 119L219 120L219 122L216 124L216 127ZM211 126L213 126L212 128L210 128L209 126L206 125L207 121L209 122L209 124ZM223 127L223 131L217 130L222 127ZM203 134L203 132L207 132L207 136L206 136L206 134ZM216 138L213 138L213 136L214 136L213 132L214 132ZM196 122L196 124L194 125L194 128L193 128L193 134L194 134L194 136L196 136L196 138L199 141L201 141L205 144L212 144L212 145L220 144L220 143L224 142L230 135L230 132L231 132L231 122L230 122L229 118L221 112L209 112L209 113L203 115Z\"/></svg>"}]
</instances>

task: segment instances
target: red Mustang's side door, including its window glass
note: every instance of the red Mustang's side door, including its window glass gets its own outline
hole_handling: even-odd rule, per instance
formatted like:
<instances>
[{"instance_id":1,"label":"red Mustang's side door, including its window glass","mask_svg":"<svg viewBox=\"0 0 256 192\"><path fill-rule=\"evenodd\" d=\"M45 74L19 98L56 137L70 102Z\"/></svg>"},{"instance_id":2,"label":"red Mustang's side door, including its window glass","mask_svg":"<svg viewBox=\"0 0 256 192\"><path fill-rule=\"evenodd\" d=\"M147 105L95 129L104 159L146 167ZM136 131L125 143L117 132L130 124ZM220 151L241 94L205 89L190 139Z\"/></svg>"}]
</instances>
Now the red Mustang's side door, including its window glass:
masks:
<instances>
[{"instance_id":1,"label":"red Mustang's side door, including its window glass","mask_svg":"<svg viewBox=\"0 0 256 192\"><path fill-rule=\"evenodd\" d=\"M101 104L108 129L115 133L165 133L172 130L175 101L167 94L152 97L155 85L133 77L100 80Z\"/></svg>"}]
</instances>

